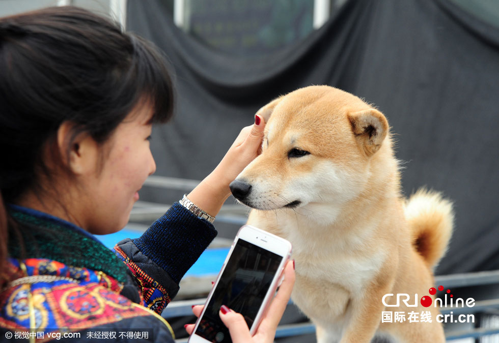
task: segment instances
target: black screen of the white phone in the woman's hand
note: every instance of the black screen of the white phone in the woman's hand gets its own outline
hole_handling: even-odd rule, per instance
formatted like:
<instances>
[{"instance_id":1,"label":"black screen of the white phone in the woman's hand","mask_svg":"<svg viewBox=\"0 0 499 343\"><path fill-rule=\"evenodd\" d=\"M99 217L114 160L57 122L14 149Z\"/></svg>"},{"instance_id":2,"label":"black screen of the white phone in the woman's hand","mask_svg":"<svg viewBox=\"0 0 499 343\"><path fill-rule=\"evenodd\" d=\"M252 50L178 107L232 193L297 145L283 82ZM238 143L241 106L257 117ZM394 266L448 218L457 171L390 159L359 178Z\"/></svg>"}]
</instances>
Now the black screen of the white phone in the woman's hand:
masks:
<instances>
[{"instance_id":1,"label":"black screen of the white phone in the woman's hand","mask_svg":"<svg viewBox=\"0 0 499 343\"><path fill-rule=\"evenodd\" d=\"M238 239L196 334L213 343L232 342L218 316L221 305L244 316L251 328L283 257Z\"/></svg>"}]
</instances>

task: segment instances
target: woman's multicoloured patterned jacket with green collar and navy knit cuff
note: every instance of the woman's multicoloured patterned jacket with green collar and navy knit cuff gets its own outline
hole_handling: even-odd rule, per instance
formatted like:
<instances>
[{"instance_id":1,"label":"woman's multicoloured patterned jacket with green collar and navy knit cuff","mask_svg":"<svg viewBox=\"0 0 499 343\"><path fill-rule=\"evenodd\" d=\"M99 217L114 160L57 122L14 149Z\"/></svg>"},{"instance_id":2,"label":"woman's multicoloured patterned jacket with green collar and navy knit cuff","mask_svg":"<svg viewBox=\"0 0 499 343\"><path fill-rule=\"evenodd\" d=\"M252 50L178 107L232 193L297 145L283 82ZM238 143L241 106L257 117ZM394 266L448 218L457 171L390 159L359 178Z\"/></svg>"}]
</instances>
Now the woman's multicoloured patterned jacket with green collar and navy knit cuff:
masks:
<instances>
[{"instance_id":1,"label":"woman's multicoloured patterned jacket with green collar and navy knit cuff","mask_svg":"<svg viewBox=\"0 0 499 343\"><path fill-rule=\"evenodd\" d=\"M160 314L216 236L209 222L175 203L112 251L57 217L13 205L9 213L24 244L9 233L0 341L173 342Z\"/></svg>"}]
</instances>

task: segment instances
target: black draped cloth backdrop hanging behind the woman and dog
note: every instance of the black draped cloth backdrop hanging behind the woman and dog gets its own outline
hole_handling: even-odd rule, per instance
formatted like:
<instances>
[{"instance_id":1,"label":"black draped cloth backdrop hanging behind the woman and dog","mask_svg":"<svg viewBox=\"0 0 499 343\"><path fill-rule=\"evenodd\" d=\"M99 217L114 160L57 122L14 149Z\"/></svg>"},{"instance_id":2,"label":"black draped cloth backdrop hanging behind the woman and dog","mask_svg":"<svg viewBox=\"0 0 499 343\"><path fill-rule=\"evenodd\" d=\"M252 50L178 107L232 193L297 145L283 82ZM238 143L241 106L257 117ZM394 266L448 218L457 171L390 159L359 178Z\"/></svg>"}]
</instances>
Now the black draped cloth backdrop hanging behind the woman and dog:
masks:
<instances>
[{"instance_id":1,"label":"black draped cloth backdrop hanging behind the woman and dog","mask_svg":"<svg viewBox=\"0 0 499 343\"><path fill-rule=\"evenodd\" d=\"M306 39L244 58L186 35L161 1L127 4L127 29L163 49L176 73L176 116L153 133L157 175L202 179L268 101L311 84L339 87L388 118L406 195L427 186L455 202L437 274L499 269L497 28L449 0L350 0Z\"/></svg>"}]
</instances>

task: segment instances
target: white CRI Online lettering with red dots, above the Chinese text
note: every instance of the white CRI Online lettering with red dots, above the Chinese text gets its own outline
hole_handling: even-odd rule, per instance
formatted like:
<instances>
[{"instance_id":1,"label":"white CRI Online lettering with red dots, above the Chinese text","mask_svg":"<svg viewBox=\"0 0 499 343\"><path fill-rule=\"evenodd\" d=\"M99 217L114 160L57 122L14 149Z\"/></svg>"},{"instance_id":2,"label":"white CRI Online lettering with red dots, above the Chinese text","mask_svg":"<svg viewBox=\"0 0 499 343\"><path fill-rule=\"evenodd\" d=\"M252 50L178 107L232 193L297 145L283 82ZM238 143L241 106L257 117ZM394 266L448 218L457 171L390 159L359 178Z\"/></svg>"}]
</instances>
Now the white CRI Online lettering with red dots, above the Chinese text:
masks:
<instances>
[{"instance_id":1,"label":"white CRI Online lettering with red dots, above the Chinese text","mask_svg":"<svg viewBox=\"0 0 499 343\"><path fill-rule=\"evenodd\" d=\"M443 291L444 290L443 286L438 286L438 290L440 292ZM432 287L429 289L428 293L430 293L431 295L435 295L436 289ZM464 307L464 304L466 304L467 307L475 306L475 299L467 298L466 300L464 300L463 298L457 298L456 301L454 301L453 295L450 293L451 293L451 290L447 290L443 299L436 298L433 305L435 307L437 307L437 306L439 306L439 307L448 307L448 306L450 306L450 307L454 307L454 306ZM448 298L448 295L449 295L449 298ZM383 305L385 305L386 307L399 307L400 301L402 301L407 307L417 307L418 306L418 294L414 294L414 300L413 300L414 303L410 303L411 297L406 293L397 293L397 302L395 304L386 303L386 298L393 297L393 296L394 296L394 294L392 294L392 293L383 295L383 298L381 299L381 301L383 302ZM424 307L430 307L432 302L433 302L433 299L431 298L431 296L425 295L420 299L420 303Z\"/></svg>"}]
</instances>

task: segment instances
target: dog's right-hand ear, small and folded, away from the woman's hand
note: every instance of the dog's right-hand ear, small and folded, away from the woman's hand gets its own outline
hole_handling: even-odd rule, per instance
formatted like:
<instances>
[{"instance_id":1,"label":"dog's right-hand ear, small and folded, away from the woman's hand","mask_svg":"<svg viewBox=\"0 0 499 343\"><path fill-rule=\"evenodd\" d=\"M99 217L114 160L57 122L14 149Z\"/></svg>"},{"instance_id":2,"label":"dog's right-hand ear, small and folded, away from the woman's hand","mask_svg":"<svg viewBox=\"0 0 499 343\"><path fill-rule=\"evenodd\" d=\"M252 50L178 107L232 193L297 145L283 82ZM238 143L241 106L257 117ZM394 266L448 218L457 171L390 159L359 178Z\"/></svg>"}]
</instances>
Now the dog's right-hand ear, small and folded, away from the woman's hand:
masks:
<instances>
[{"instance_id":1,"label":"dog's right-hand ear, small and folded, away from the woman's hand","mask_svg":"<svg viewBox=\"0 0 499 343\"><path fill-rule=\"evenodd\" d=\"M388 122L384 115L374 108L348 113L352 131L357 143L368 156L381 147L388 133Z\"/></svg>"}]
</instances>

